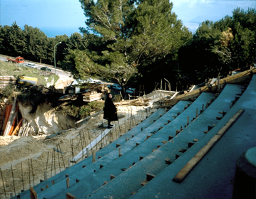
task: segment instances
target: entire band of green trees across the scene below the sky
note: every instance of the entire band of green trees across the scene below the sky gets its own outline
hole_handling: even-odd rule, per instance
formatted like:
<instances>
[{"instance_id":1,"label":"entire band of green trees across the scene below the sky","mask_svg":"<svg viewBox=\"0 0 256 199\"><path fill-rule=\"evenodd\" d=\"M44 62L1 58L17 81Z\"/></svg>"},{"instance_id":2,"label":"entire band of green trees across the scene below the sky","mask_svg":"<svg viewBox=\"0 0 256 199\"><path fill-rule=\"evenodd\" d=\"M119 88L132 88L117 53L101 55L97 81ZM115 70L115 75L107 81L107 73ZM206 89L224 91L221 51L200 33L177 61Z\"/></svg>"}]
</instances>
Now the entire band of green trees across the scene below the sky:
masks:
<instances>
[{"instance_id":1,"label":"entire band of green trees across the scene below the sky","mask_svg":"<svg viewBox=\"0 0 256 199\"><path fill-rule=\"evenodd\" d=\"M75 79L105 79L123 87L158 89L161 80L183 90L256 62L256 10L232 11L188 31L168 0L81 0L85 28L48 38L39 28L0 26L0 51L56 65ZM122 9L119 9L122 8ZM104 11L104 14L102 13Z\"/></svg>"}]
</instances>

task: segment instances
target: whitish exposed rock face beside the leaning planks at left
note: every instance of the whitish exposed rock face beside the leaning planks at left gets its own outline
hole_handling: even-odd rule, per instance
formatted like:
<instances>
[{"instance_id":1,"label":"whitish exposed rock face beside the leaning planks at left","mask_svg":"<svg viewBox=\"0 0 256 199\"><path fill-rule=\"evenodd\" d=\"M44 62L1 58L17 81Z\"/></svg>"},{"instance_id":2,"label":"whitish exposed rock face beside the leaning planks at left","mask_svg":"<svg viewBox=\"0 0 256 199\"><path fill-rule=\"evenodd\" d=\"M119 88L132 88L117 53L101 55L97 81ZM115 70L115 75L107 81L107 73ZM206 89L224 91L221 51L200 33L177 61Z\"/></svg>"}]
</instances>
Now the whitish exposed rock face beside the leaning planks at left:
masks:
<instances>
[{"instance_id":1,"label":"whitish exposed rock face beside the leaning planks at left","mask_svg":"<svg viewBox=\"0 0 256 199\"><path fill-rule=\"evenodd\" d=\"M56 111L49 103L39 104L34 114L30 113L31 106L24 106L20 102L18 104L22 117L30 123L30 131L34 131L36 134L54 134L61 130L76 127L73 119Z\"/></svg>"}]
</instances>

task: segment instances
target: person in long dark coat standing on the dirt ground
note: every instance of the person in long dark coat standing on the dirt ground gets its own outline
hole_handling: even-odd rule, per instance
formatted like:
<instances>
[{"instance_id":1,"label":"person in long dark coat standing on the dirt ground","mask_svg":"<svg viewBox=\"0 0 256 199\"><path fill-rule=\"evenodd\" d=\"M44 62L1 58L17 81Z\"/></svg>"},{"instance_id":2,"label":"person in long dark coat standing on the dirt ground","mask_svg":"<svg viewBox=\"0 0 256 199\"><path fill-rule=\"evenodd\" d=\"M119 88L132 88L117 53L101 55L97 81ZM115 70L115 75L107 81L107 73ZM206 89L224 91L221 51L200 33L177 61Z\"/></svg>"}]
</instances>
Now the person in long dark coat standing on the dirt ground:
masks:
<instances>
[{"instance_id":1,"label":"person in long dark coat standing on the dirt ground","mask_svg":"<svg viewBox=\"0 0 256 199\"><path fill-rule=\"evenodd\" d=\"M108 129L111 129L113 125L111 125L111 121L118 121L118 114L116 111L116 106L112 102L112 95L108 93L105 100L105 107L103 108L104 114L103 119L108 120Z\"/></svg>"}]
</instances>

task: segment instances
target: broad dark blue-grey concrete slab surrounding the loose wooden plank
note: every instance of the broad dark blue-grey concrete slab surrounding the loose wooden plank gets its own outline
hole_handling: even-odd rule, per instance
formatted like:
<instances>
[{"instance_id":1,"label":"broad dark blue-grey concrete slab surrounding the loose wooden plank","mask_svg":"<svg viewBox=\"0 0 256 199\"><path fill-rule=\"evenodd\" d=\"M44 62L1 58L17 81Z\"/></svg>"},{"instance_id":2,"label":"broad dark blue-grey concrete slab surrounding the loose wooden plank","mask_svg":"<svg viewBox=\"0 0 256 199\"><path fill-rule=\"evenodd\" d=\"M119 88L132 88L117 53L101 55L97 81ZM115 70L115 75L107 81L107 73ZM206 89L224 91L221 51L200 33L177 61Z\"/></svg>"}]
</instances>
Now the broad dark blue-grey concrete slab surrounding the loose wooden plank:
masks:
<instances>
[{"instance_id":1,"label":"broad dark blue-grey concrete slab surrounding the loose wooden plank","mask_svg":"<svg viewBox=\"0 0 256 199\"><path fill-rule=\"evenodd\" d=\"M240 95L237 95L238 97ZM232 198L237 158L256 146L256 75L240 99L216 126L188 152L160 172L130 198ZM203 146L225 126L239 109L245 112L200 160L188 176L176 183L173 178ZM244 198L250 198L244 195Z\"/></svg>"}]
</instances>

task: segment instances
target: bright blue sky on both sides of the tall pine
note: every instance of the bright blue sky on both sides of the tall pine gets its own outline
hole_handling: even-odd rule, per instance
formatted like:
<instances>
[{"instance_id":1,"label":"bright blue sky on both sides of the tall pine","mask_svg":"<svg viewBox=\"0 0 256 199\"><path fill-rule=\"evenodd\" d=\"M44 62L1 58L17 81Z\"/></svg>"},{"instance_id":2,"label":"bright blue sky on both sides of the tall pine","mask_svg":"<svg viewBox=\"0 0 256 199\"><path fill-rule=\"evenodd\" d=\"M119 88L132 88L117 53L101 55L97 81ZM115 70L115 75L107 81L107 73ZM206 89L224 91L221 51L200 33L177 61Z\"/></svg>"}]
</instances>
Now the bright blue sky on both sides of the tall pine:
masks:
<instances>
[{"instance_id":1,"label":"bright blue sky on both sides of the tall pine","mask_svg":"<svg viewBox=\"0 0 256 199\"><path fill-rule=\"evenodd\" d=\"M194 32L205 20L218 21L237 7L247 11L256 7L256 0L173 0L173 12L184 26ZM79 32L86 28L79 0L0 0L0 25L18 24L37 27L48 37Z\"/></svg>"}]
</instances>

